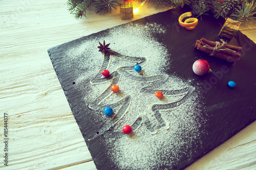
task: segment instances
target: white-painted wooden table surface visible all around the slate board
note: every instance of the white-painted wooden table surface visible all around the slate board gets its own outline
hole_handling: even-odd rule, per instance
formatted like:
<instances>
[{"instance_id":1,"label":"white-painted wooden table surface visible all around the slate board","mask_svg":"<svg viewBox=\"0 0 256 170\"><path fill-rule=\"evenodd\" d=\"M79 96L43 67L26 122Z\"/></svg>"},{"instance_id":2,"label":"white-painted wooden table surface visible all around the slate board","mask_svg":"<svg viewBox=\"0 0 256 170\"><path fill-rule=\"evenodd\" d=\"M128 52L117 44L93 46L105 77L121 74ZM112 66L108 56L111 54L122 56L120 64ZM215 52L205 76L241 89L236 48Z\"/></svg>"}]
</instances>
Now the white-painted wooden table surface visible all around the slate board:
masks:
<instances>
[{"instance_id":1,"label":"white-painted wooden table surface visible all around the slate board","mask_svg":"<svg viewBox=\"0 0 256 170\"><path fill-rule=\"evenodd\" d=\"M96 169L47 50L131 20L121 20L118 11L92 11L76 20L66 2L0 1L1 169ZM143 6L133 20L164 10ZM240 29L254 42L255 23ZM3 161L4 113L8 166ZM256 122L187 169L256 169L255 153Z\"/></svg>"}]
</instances>

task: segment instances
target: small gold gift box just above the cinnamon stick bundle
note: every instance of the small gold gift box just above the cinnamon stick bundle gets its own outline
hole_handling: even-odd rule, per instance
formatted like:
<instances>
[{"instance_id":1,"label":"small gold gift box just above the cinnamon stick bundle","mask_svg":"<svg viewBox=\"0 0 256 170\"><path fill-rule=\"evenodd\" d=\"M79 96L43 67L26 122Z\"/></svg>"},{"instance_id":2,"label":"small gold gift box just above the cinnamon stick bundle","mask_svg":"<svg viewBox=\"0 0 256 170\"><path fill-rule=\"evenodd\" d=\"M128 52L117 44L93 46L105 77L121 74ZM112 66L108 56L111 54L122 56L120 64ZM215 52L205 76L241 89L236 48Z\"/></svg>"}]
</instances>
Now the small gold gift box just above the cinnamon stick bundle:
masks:
<instances>
[{"instance_id":1,"label":"small gold gift box just above the cinnamon stick bundle","mask_svg":"<svg viewBox=\"0 0 256 170\"><path fill-rule=\"evenodd\" d=\"M232 39L237 34L241 22L227 18L218 34L222 38Z\"/></svg>"}]
</instances>

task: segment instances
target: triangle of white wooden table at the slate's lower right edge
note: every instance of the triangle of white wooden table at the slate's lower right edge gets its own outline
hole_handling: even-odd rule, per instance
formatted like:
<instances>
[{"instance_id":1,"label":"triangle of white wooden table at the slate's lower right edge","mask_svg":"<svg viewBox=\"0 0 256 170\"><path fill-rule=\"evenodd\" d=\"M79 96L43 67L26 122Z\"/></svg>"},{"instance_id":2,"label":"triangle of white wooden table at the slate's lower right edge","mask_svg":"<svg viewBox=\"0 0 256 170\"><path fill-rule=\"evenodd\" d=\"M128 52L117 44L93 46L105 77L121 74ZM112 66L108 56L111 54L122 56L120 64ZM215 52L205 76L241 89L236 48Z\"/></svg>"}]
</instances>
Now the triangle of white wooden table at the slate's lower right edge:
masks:
<instances>
[{"instance_id":1,"label":"triangle of white wooden table at the slate's lower right edge","mask_svg":"<svg viewBox=\"0 0 256 170\"><path fill-rule=\"evenodd\" d=\"M186 170L193 169L255 169L256 122L214 149Z\"/></svg>"}]
</instances>

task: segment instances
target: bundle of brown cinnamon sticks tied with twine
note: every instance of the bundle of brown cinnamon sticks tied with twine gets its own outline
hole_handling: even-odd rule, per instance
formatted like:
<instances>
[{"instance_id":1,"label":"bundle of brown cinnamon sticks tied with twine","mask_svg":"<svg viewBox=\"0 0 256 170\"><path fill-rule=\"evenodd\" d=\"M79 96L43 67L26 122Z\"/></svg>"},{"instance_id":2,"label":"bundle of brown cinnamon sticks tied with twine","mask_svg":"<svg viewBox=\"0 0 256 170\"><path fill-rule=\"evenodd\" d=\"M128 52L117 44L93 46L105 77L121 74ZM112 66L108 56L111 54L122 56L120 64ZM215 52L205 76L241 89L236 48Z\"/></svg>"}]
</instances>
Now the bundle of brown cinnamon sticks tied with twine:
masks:
<instances>
[{"instance_id":1,"label":"bundle of brown cinnamon sticks tied with twine","mask_svg":"<svg viewBox=\"0 0 256 170\"><path fill-rule=\"evenodd\" d=\"M210 56L214 56L231 63L237 62L238 58L241 56L240 52L242 51L242 47L228 45L224 41L223 43L201 38L196 41L195 48L209 54Z\"/></svg>"}]
</instances>

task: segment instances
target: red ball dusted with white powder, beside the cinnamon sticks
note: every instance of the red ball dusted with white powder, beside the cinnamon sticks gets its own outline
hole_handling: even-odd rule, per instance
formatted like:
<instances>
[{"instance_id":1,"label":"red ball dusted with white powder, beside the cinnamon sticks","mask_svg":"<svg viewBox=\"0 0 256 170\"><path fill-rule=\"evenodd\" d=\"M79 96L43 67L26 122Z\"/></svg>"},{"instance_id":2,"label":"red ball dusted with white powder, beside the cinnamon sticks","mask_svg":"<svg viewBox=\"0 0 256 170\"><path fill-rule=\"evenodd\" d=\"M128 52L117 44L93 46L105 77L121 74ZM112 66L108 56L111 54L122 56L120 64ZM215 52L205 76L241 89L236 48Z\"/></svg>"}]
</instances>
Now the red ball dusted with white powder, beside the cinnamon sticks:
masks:
<instances>
[{"instance_id":1,"label":"red ball dusted with white powder, beside the cinnamon sticks","mask_svg":"<svg viewBox=\"0 0 256 170\"><path fill-rule=\"evenodd\" d=\"M195 63L193 64L193 71L199 76L207 74L207 72L209 72L209 69L209 63L202 59L195 61Z\"/></svg>"}]
</instances>

